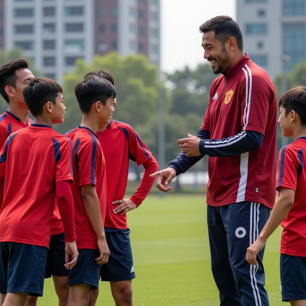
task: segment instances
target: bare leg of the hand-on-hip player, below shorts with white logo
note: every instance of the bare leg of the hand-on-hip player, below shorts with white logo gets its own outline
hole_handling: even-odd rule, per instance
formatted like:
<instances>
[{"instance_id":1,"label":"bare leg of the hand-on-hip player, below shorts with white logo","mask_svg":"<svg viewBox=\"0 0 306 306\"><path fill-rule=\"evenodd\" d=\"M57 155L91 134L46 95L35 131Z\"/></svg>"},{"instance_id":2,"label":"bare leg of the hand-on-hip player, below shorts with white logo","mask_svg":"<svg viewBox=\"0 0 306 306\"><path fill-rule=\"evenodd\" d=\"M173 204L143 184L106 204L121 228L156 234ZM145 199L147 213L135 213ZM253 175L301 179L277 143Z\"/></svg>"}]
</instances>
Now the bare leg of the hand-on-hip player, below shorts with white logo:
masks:
<instances>
[{"instance_id":1,"label":"bare leg of the hand-on-hip player, below shorts with white logo","mask_svg":"<svg viewBox=\"0 0 306 306\"><path fill-rule=\"evenodd\" d=\"M133 306L132 280L110 282L110 289L116 306Z\"/></svg>"}]
</instances>

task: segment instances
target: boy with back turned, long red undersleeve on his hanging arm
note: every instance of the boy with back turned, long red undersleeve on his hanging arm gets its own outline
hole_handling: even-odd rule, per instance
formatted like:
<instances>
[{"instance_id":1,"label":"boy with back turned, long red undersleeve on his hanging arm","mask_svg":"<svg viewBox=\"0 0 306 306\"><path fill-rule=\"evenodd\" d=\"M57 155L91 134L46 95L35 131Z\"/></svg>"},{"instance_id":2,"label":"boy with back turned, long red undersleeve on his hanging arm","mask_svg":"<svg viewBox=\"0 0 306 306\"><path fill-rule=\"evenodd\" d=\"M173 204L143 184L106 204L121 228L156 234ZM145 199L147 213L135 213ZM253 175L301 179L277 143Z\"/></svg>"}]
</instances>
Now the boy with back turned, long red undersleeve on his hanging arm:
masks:
<instances>
[{"instance_id":1,"label":"boy with back turned, long red undersleeve on his hanging arm","mask_svg":"<svg viewBox=\"0 0 306 306\"><path fill-rule=\"evenodd\" d=\"M0 211L1 303L24 305L28 293L42 296L50 223L55 198L65 227L67 269L78 257L70 189L71 142L55 132L65 113L62 88L53 80L33 79L23 90L35 118L30 126L11 134L0 154L4 181ZM68 262L69 254L73 259ZM2 296L3 299L3 296Z\"/></svg>"}]
</instances>

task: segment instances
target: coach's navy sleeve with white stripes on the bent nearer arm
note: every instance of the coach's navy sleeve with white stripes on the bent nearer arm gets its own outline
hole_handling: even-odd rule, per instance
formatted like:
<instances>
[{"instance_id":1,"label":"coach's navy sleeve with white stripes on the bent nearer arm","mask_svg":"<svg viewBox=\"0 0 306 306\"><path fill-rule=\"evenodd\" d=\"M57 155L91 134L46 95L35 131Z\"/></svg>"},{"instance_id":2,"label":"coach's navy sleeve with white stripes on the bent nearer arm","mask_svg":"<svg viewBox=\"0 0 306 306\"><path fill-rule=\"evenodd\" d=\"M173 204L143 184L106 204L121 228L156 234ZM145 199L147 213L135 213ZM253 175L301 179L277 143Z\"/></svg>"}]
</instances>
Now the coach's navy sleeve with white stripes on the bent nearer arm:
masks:
<instances>
[{"instance_id":1,"label":"coach's navy sleeve with white stripes on the bent nearer arm","mask_svg":"<svg viewBox=\"0 0 306 306\"><path fill-rule=\"evenodd\" d=\"M236 135L223 139L203 139L200 137L200 153L214 157L240 155L260 148L263 134L255 131L241 131Z\"/></svg>"}]
</instances>

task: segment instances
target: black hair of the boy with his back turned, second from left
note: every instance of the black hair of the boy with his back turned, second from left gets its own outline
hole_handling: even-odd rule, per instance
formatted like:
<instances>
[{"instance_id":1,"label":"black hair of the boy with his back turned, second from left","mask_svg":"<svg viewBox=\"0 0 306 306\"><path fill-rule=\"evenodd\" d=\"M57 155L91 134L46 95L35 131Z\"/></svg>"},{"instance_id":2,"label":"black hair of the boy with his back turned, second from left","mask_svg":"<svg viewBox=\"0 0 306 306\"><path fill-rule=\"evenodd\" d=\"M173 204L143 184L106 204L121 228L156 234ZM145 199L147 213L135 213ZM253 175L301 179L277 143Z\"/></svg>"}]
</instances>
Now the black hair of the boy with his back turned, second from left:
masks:
<instances>
[{"instance_id":1,"label":"black hair of the boy with his back turned, second from left","mask_svg":"<svg viewBox=\"0 0 306 306\"><path fill-rule=\"evenodd\" d=\"M43 106L47 102L55 105L59 93L63 93L61 85L43 77L34 78L22 92L24 103L34 117L43 113Z\"/></svg>"}]
</instances>

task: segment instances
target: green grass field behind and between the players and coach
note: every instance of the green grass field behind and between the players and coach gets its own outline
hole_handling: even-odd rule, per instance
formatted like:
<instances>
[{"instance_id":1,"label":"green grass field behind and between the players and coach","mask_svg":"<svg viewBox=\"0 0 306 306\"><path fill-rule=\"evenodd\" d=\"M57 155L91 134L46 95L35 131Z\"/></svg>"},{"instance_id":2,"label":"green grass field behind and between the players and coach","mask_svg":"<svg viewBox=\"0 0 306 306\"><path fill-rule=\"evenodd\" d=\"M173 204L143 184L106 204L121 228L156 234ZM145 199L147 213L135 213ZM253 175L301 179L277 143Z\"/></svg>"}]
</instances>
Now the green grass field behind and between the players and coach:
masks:
<instances>
[{"instance_id":1,"label":"green grass field behind and between the players and coach","mask_svg":"<svg viewBox=\"0 0 306 306\"><path fill-rule=\"evenodd\" d=\"M217 306L218 291L210 268L204 196L149 196L128 213L136 279L135 306ZM279 228L264 256L270 305L281 305ZM57 305L51 279L39 305ZM97 305L114 305L108 283L100 282Z\"/></svg>"}]
</instances>

